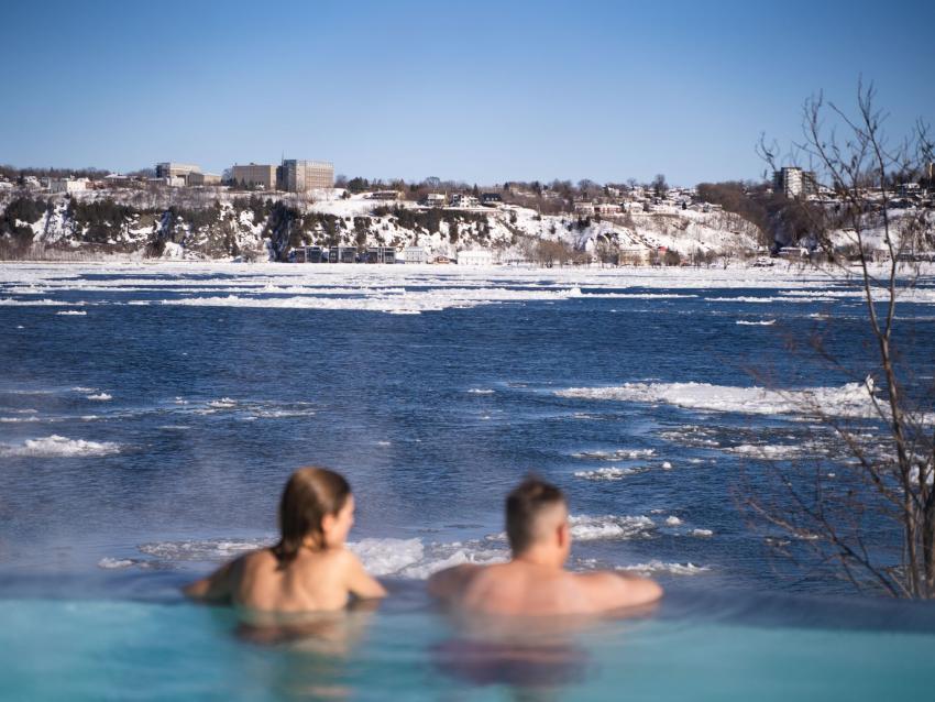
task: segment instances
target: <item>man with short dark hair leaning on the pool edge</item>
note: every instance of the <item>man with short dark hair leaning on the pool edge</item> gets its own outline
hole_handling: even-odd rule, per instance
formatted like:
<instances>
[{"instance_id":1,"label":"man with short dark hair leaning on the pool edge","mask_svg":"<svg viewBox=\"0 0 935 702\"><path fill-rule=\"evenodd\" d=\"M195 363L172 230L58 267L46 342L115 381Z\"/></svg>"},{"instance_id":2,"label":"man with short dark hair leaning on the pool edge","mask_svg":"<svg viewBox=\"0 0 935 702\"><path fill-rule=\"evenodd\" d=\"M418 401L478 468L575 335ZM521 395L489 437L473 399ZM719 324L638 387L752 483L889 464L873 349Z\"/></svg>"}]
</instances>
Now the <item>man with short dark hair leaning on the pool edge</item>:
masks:
<instances>
[{"instance_id":1,"label":"man with short dark hair leaning on the pool edge","mask_svg":"<svg viewBox=\"0 0 935 702\"><path fill-rule=\"evenodd\" d=\"M616 572L571 573L568 504L562 492L528 478L506 498L507 563L465 563L429 579L429 593L460 610L492 615L594 615L648 605L662 596L652 580Z\"/></svg>"}]
</instances>

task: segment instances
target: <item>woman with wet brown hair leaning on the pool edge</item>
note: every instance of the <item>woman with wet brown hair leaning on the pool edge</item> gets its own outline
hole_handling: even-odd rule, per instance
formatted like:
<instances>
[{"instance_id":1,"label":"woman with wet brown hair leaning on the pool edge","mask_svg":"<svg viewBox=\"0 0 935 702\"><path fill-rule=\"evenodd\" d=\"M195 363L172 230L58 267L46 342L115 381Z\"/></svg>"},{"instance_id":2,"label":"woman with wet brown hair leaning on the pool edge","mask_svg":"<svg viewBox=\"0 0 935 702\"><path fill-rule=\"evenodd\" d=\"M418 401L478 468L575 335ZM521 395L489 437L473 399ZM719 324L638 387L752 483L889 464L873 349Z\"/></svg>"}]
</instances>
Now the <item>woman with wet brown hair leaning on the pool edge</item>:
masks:
<instances>
[{"instance_id":1,"label":"woman with wet brown hair leaning on the pool edge","mask_svg":"<svg viewBox=\"0 0 935 702\"><path fill-rule=\"evenodd\" d=\"M255 612L333 612L386 594L344 541L354 523L348 481L323 468L293 473L279 502L279 541L185 588L195 600Z\"/></svg>"}]
</instances>

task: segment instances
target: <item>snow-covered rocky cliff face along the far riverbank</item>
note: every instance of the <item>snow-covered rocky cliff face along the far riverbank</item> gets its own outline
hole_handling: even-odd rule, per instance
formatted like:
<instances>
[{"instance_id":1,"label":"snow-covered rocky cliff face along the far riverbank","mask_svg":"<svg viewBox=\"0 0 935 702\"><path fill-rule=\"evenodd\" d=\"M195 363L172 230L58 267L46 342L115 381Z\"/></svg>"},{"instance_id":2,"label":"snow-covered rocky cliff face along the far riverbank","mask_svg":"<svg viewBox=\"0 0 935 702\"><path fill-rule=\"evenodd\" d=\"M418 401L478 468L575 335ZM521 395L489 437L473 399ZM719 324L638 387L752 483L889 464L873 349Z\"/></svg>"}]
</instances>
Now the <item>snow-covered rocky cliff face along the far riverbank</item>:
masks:
<instances>
[{"instance_id":1,"label":"snow-covered rocky cliff face along the far riverbank","mask_svg":"<svg viewBox=\"0 0 935 702\"><path fill-rule=\"evenodd\" d=\"M424 209L363 197L297 202L284 197L223 194L196 200L147 200L97 190L78 196L13 194L0 201L0 253L36 246L172 259L286 261L300 245L419 245L431 255L484 249L494 260L531 257L541 242L583 253L660 246L682 254L743 254L759 230L737 216L693 211L640 213L612 220L539 216L503 209Z\"/></svg>"}]
</instances>

